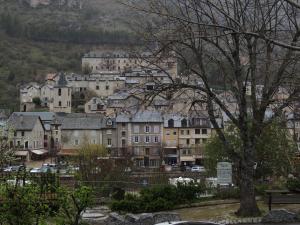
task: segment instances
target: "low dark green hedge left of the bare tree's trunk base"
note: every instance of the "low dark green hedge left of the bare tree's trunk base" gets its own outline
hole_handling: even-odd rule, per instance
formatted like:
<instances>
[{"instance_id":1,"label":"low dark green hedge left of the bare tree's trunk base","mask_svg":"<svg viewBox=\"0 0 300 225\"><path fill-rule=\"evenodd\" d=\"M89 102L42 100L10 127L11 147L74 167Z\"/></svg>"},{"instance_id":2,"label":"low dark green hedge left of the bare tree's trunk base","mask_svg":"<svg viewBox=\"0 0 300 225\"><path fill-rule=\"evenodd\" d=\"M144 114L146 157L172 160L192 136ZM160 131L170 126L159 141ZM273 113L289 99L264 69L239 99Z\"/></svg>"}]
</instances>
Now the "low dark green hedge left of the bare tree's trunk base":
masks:
<instances>
[{"instance_id":1,"label":"low dark green hedge left of the bare tree's trunk base","mask_svg":"<svg viewBox=\"0 0 300 225\"><path fill-rule=\"evenodd\" d=\"M204 187L196 183L154 186L141 190L139 195L126 194L123 200L114 200L110 206L115 211L133 213L170 210L197 200L203 192Z\"/></svg>"}]
</instances>

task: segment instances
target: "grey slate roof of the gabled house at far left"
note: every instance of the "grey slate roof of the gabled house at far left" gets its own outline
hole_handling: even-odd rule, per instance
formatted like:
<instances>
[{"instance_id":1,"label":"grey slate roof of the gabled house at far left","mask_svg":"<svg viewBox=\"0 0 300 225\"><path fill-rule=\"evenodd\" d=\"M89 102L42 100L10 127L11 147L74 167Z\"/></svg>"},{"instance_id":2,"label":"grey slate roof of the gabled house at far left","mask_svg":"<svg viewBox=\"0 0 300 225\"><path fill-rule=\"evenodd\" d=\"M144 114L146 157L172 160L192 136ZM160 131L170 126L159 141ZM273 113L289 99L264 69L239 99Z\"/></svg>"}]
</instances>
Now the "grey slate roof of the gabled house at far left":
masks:
<instances>
[{"instance_id":1,"label":"grey slate roof of the gabled house at far left","mask_svg":"<svg viewBox=\"0 0 300 225\"><path fill-rule=\"evenodd\" d=\"M35 115L17 115L13 113L8 121L7 124L9 127L12 127L15 130L28 130L31 131L34 128L37 120L40 120L39 116Z\"/></svg>"}]
</instances>

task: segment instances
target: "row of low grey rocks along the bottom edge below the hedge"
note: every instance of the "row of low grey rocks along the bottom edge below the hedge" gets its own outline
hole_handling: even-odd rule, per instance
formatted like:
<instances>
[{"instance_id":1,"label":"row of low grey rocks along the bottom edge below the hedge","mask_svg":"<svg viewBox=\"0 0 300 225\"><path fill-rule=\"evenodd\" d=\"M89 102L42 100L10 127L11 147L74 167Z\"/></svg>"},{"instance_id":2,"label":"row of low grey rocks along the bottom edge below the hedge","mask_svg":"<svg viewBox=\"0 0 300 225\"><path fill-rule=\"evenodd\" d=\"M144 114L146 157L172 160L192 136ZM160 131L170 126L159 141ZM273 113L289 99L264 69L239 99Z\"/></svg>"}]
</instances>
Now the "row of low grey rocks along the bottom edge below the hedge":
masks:
<instances>
[{"instance_id":1,"label":"row of low grey rocks along the bottom edge below the hedge","mask_svg":"<svg viewBox=\"0 0 300 225\"><path fill-rule=\"evenodd\" d=\"M108 216L101 217L100 215L93 214L89 217L83 215L83 221L90 225L154 225L162 222L180 221L180 216L172 212L159 212L159 213L142 213L142 214L126 214L120 215L112 212Z\"/></svg>"}]
</instances>

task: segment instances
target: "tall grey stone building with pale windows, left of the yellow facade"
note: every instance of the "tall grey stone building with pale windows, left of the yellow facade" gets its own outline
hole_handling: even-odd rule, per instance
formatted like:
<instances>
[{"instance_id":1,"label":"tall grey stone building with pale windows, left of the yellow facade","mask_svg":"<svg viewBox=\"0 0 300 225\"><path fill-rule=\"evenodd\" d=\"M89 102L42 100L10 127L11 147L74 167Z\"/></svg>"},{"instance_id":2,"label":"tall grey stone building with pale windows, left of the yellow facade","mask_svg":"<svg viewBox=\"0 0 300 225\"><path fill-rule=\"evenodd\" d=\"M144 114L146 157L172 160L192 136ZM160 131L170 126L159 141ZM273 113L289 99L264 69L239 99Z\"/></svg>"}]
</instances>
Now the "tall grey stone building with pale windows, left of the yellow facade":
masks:
<instances>
[{"instance_id":1,"label":"tall grey stone building with pale windows, left of the yellow facade","mask_svg":"<svg viewBox=\"0 0 300 225\"><path fill-rule=\"evenodd\" d=\"M131 116L120 115L116 122L118 128L122 127L122 130L118 131L118 134L120 135L121 132L122 136L121 145L130 152L135 166L159 167L162 162L163 122L161 114L142 111Z\"/></svg>"}]
</instances>

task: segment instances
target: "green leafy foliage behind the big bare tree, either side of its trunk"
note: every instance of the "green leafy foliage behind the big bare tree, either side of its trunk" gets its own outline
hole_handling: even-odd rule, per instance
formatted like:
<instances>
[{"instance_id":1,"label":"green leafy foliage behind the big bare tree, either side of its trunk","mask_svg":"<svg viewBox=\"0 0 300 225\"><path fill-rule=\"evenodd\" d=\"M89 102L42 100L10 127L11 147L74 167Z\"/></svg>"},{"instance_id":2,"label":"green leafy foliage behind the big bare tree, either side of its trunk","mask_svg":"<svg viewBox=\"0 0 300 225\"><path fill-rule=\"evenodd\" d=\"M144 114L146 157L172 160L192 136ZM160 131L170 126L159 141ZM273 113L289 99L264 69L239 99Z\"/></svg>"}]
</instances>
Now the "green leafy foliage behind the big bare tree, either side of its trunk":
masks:
<instances>
[{"instance_id":1,"label":"green leafy foliage behind the big bare tree, either side of its trunk","mask_svg":"<svg viewBox=\"0 0 300 225\"><path fill-rule=\"evenodd\" d=\"M292 170L291 158L296 149L295 142L286 129L283 128L280 121L274 121L266 126L256 142L256 159L257 168L255 171L256 178L268 176L287 176ZM232 149L237 154L242 152L242 142L239 131L234 126L229 126L225 136ZM232 161L227 151L224 149L222 141L213 137L205 146L205 167L209 170L211 176L216 175L216 165L220 161ZM238 166L239 162L233 162Z\"/></svg>"}]
</instances>

